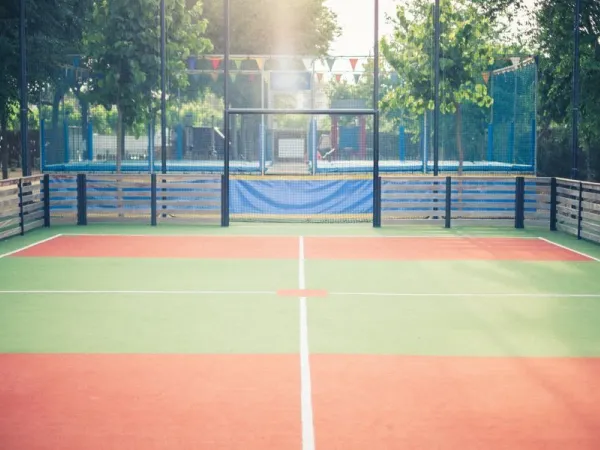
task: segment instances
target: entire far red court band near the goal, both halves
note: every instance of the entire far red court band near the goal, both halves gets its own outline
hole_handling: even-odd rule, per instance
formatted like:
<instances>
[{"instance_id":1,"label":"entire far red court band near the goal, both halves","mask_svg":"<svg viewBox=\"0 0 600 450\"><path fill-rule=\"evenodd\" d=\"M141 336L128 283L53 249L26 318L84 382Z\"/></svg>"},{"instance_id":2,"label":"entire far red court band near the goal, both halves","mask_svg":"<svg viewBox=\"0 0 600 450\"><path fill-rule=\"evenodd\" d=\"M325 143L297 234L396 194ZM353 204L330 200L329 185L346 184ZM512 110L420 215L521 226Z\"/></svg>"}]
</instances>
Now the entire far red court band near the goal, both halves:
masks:
<instances>
[{"instance_id":1,"label":"entire far red court band near the goal, both halves","mask_svg":"<svg viewBox=\"0 0 600 450\"><path fill-rule=\"evenodd\" d=\"M17 252L27 257L298 259L298 237L60 236ZM306 259L593 261L541 239L304 238Z\"/></svg>"}]
</instances>

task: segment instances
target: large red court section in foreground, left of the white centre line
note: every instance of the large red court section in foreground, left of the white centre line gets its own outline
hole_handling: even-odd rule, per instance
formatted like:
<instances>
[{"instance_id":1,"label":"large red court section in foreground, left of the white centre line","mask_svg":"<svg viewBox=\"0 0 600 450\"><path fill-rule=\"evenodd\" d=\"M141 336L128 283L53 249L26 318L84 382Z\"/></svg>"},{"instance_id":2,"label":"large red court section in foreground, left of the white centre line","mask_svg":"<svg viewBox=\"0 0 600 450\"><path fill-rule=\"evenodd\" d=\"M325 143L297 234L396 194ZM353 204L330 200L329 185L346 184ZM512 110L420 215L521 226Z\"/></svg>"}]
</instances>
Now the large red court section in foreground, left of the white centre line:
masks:
<instances>
[{"instance_id":1,"label":"large red court section in foreground, left of the white centre line","mask_svg":"<svg viewBox=\"0 0 600 450\"><path fill-rule=\"evenodd\" d=\"M3 450L300 448L297 355L0 355Z\"/></svg>"}]
</instances>

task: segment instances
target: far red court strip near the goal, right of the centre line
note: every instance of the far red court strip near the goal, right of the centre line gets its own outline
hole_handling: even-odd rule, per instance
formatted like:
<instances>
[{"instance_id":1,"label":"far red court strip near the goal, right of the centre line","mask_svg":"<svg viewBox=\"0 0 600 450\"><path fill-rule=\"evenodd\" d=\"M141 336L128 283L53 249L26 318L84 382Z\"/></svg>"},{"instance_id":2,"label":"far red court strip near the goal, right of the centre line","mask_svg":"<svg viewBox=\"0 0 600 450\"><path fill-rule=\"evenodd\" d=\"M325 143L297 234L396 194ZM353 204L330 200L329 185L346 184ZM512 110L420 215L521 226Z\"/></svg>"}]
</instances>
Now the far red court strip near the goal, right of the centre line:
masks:
<instances>
[{"instance_id":1,"label":"far red court strip near the goal, right of the centre line","mask_svg":"<svg viewBox=\"0 0 600 450\"><path fill-rule=\"evenodd\" d=\"M307 259L593 261L541 239L306 238Z\"/></svg>"}]
</instances>

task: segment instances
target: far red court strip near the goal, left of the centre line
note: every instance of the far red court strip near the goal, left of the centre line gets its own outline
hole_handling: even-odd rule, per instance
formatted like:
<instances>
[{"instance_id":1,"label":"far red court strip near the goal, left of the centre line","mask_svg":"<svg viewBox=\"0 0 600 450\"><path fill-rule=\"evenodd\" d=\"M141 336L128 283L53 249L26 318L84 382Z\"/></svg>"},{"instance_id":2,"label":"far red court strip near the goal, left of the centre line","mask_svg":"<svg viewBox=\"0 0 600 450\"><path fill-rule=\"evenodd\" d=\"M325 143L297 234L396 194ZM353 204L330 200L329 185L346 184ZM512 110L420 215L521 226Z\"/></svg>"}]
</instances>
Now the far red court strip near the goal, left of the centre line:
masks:
<instances>
[{"instance_id":1,"label":"far red court strip near the goal, left of the centre line","mask_svg":"<svg viewBox=\"0 0 600 450\"><path fill-rule=\"evenodd\" d=\"M59 236L14 256L298 259L298 238L237 236Z\"/></svg>"}]
</instances>

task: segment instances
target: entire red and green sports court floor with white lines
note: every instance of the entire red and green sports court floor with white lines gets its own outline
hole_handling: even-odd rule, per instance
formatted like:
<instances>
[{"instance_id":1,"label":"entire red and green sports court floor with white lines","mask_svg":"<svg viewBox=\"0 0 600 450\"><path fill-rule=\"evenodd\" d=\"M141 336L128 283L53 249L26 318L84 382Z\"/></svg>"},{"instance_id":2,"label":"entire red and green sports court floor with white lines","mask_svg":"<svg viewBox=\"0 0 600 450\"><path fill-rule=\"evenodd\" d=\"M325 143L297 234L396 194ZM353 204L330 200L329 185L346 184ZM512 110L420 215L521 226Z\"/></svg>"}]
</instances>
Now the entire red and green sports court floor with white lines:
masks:
<instances>
[{"instance_id":1,"label":"entire red and green sports court floor with white lines","mask_svg":"<svg viewBox=\"0 0 600 450\"><path fill-rule=\"evenodd\" d=\"M4 448L600 445L600 249L564 234L53 226L0 254Z\"/></svg>"}]
</instances>

